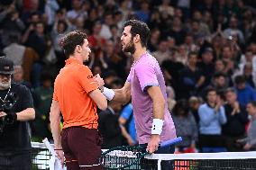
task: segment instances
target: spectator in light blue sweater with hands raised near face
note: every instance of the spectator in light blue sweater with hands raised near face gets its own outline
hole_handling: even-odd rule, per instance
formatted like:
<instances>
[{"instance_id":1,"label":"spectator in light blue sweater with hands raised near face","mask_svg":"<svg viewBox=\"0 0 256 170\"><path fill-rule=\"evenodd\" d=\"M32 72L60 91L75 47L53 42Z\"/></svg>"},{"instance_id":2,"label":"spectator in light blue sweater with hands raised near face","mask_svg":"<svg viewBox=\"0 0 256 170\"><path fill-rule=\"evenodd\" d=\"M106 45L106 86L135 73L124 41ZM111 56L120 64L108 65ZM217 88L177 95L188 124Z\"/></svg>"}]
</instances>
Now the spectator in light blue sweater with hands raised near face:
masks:
<instances>
[{"instance_id":1,"label":"spectator in light blue sweater with hands raised near face","mask_svg":"<svg viewBox=\"0 0 256 170\"><path fill-rule=\"evenodd\" d=\"M199 110L199 147L201 152L223 152L222 125L226 122L224 106L215 88L208 87L206 103Z\"/></svg>"}]
</instances>

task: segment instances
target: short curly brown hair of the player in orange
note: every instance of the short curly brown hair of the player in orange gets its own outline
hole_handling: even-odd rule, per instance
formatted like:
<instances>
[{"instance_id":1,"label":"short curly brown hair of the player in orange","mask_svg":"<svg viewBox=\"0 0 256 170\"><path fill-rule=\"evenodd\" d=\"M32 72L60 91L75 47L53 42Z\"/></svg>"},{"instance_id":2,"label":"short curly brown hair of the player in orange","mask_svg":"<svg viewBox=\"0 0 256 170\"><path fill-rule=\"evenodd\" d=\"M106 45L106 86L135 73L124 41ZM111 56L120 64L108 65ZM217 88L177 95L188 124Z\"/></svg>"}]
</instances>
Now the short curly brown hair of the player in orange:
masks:
<instances>
[{"instance_id":1,"label":"short curly brown hair of the player in orange","mask_svg":"<svg viewBox=\"0 0 256 170\"><path fill-rule=\"evenodd\" d=\"M60 46L64 49L64 54L69 57L74 54L78 45L82 46L87 39L87 34L83 31L70 31L60 40Z\"/></svg>"}]
</instances>

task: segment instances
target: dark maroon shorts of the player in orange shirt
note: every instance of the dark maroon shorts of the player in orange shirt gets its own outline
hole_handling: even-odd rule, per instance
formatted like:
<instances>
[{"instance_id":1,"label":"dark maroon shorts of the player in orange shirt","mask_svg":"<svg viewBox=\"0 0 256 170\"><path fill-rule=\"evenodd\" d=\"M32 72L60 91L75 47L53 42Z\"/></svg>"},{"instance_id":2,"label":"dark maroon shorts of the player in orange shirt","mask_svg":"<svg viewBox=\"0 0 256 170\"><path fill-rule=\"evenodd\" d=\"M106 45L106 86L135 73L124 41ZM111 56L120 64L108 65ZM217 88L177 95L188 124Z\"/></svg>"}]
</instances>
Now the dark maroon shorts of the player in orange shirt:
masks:
<instances>
[{"instance_id":1,"label":"dark maroon shorts of the player in orange shirt","mask_svg":"<svg viewBox=\"0 0 256 170\"><path fill-rule=\"evenodd\" d=\"M99 165L102 138L95 129L71 127L61 131L61 145L68 170L102 170Z\"/></svg>"}]
</instances>

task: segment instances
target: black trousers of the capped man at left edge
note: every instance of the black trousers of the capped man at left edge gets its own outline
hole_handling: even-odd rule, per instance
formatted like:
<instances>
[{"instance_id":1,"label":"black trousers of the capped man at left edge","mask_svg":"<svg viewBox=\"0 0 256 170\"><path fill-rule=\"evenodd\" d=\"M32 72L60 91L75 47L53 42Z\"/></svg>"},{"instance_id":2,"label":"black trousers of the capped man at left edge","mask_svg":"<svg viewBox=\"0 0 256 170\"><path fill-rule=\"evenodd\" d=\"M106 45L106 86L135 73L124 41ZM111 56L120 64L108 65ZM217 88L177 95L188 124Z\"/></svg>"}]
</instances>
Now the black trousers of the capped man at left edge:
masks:
<instances>
[{"instance_id":1,"label":"black trousers of the capped man at left edge","mask_svg":"<svg viewBox=\"0 0 256 170\"><path fill-rule=\"evenodd\" d=\"M32 170L32 154L0 152L0 170Z\"/></svg>"}]
</instances>

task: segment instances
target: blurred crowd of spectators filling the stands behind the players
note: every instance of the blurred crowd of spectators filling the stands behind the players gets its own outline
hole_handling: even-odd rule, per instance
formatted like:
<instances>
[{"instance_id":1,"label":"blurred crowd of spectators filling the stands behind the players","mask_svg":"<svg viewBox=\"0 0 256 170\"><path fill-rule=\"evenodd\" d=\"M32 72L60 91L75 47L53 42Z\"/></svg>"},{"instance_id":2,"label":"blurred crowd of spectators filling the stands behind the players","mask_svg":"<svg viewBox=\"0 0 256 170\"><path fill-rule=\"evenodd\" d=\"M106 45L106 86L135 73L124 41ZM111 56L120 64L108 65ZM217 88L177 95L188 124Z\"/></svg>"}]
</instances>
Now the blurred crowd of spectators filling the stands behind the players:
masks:
<instances>
[{"instance_id":1,"label":"blurred crowd of spectators filling the stands behind the players","mask_svg":"<svg viewBox=\"0 0 256 170\"><path fill-rule=\"evenodd\" d=\"M86 31L92 51L87 66L106 86L119 88L133 64L121 50L123 22L141 20L151 29L148 50L160 63L169 110L184 139L178 152L252 150L255 16L253 0L5 0L0 53L14 61L14 82L32 91L32 138L51 138L52 86L66 60L59 39ZM136 145L131 103L109 103L109 108L99 113L104 148Z\"/></svg>"}]
</instances>

